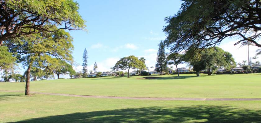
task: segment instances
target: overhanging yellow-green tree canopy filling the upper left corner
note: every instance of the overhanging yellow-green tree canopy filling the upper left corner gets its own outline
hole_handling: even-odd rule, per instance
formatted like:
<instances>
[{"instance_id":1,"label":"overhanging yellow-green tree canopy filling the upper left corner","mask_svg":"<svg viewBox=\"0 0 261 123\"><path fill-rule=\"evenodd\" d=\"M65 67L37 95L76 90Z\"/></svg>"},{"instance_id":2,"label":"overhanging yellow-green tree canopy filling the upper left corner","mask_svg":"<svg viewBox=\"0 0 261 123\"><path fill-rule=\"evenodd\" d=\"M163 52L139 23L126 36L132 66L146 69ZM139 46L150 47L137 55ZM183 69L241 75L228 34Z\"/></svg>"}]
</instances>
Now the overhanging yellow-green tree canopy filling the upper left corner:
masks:
<instances>
[{"instance_id":1,"label":"overhanging yellow-green tree canopy filling the upper left corner","mask_svg":"<svg viewBox=\"0 0 261 123\"><path fill-rule=\"evenodd\" d=\"M78 9L79 4L73 0L0 0L0 46L5 40L23 35L85 30Z\"/></svg>"}]
</instances>

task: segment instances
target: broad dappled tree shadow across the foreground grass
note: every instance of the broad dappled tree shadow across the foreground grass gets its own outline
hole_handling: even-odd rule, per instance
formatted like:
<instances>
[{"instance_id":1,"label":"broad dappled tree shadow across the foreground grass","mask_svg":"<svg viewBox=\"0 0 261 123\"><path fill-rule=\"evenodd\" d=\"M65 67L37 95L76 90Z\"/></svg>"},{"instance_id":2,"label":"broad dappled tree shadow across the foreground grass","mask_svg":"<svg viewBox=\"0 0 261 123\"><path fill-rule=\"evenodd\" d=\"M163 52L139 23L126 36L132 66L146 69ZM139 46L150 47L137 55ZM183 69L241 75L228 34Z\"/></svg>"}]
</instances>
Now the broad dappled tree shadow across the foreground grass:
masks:
<instances>
[{"instance_id":1,"label":"broad dappled tree shadow across the foreground grass","mask_svg":"<svg viewBox=\"0 0 261 123\"><path fill-rule=\"evenodd\" d=\"M17 122L261 122L261 111L224 106L143 107L79 112Z\"/></svg>"}]
</instances>

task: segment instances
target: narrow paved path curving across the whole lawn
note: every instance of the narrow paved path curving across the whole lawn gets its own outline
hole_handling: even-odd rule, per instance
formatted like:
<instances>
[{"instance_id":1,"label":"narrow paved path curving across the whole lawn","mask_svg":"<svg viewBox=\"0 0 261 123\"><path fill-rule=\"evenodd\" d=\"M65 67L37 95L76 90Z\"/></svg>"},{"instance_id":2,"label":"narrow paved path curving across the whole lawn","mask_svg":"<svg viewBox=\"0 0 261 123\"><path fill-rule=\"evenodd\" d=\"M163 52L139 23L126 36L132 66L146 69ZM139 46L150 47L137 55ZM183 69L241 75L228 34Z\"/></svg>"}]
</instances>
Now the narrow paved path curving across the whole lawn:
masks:
<instances>
[{"instance_id":1,"label":"narrow paved path curving across the whole lawn","mask_svg":"<svg viewBox=\"0 0 261 123\"><path fill-rule=\"evenodd\" d=\"M24 92L24 91L10 91L10 90L0 90L0 91L4 91L4 92ZM90 95L43 93L43 92L30 92L30 93L69 96L69 97L84 97L84 98L111 98L111 99L136 99L136 100L192 100L192 101L205 101L205 100L210 100L210 101L253 101L253 100L261 100L261 98L148 98L148 97L90 96Z\"/></svg>"}]
</instances>

